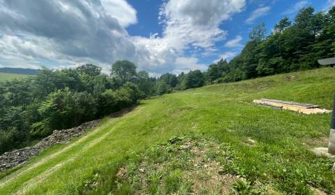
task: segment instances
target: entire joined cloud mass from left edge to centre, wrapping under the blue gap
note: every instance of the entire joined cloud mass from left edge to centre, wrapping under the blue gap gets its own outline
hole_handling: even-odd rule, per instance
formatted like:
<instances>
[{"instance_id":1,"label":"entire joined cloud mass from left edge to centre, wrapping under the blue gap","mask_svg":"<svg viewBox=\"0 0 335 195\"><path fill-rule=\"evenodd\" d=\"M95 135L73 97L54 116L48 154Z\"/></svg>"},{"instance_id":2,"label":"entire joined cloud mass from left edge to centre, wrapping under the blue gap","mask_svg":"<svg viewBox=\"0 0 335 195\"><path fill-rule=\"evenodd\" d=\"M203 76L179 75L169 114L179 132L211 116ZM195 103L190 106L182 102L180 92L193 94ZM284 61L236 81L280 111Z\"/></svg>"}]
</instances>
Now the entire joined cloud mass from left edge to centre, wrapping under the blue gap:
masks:
<instances>
[{"instance_id":1,"label":"entire joined cloud mass from left edge to centre, wrapping under the blue gap","mask_svg":"<svg viewBox=\"0 0 335 195\"><path fill-rule=\"evenodd\" d=\"M161 37L129 36L137 22L126 0L0 0L0 63L52 68L96 63L109 70L119 59L154 74L204 69L188 47L214 51L226 31L221 22L240 12L245 0L170 0L159 13Z\"/></svg>"}]
</instances>

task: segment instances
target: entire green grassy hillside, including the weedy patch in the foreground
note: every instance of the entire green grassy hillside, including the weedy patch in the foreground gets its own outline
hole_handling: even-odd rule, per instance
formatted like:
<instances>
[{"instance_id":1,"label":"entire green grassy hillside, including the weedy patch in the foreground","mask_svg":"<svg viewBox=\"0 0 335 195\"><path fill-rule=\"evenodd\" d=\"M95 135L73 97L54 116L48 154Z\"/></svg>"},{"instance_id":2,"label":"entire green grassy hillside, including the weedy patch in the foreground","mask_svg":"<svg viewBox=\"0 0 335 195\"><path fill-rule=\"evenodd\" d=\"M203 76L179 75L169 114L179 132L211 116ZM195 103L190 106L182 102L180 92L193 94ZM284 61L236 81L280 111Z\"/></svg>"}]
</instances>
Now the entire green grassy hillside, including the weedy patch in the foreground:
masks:
<instances>
[{"instance_id":1,"label":"entire green grassy hillside, including the weedy patch in the foreground","mask_svg":"<svg viewBox=\"0 0 335 195\"><path fill-rule=\"evenodd\" d=\"M321 68L144 100L2 173L0 194L332 194L334 159L310 152L327 146L331 114L307 116L252 100L331 109L334 83L335 69Z\"/></svg>"}]
</instances>

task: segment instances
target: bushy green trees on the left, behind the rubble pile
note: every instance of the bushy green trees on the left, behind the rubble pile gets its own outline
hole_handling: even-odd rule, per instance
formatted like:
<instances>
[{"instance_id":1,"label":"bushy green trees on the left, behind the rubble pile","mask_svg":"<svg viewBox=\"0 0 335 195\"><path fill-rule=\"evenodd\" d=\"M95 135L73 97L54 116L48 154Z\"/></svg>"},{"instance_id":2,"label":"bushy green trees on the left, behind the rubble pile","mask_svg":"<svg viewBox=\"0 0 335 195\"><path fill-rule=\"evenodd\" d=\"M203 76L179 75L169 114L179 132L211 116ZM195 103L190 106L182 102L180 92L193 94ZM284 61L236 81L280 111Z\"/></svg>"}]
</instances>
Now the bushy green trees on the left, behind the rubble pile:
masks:
<instances>
[{"instance_id":1,"label":"bushy green trees on the left, behind the rubble pile","mask_svg":"<svg viewBox=\"0 0 335 195\"><path fill-rule=\"evenodd\" d=\"M34 77L0 83L0 153L107 116L153 95L204 85L200 70L159 78L130 61L117 61L110 75L93 64L43 68Z\"/></svg>"}]
</instances>

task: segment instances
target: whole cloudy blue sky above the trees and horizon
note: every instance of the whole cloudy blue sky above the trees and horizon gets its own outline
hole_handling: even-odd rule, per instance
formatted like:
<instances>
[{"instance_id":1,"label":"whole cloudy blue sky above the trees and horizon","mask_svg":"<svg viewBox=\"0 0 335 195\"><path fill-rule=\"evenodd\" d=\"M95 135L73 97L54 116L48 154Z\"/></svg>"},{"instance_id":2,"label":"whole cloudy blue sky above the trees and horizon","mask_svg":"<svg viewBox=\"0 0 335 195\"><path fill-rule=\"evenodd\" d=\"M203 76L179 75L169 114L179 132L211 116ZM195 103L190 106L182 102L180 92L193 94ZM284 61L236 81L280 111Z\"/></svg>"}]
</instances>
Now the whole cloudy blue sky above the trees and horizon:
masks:
<instances>
[{"instance_id":1,"label":"whole cloudy blue sky above the trees and horizon","mask_svg":"<svg viewBox=\"0 0 335 195\"><path fill-rule=\"evenodd\" d=\"M73 68L105 72L128 59L151 75L206 70L232 59L248 32L268 32L303 7L324 11L335 0L0 0L0 67Z\"/></svg>"}]
</instances>

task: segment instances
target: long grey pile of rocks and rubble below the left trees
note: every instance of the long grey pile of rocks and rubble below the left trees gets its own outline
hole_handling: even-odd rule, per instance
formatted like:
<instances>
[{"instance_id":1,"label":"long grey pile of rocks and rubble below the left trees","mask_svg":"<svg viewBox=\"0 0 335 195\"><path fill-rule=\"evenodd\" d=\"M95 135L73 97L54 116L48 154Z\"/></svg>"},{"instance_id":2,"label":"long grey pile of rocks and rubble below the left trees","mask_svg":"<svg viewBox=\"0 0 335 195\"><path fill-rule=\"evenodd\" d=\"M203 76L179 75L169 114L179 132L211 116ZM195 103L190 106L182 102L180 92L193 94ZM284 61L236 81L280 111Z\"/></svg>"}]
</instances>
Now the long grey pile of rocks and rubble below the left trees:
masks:
<instances>
[{"instance_id":1,"label":"long grey pile of rocks and rubble below the left trees","mask_svg":"<svg viewBox=\"0 0 335 195\"><path fill-rule=\"evenodd\" d=\"M33 147L3 153L3 155L0 156L0 171L6 171L14 166L26 163L31 157L38 155L41 151L45 150L45 148L53 146L57 143L66 143L73 137L79 137L86 130L96 127L99 122L100 120L92 120L68 130L54 130L49 137L42 139L42 141Z\"/></svg>"}]
</instances>

